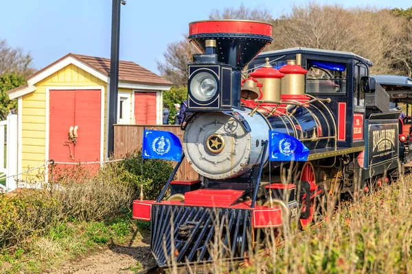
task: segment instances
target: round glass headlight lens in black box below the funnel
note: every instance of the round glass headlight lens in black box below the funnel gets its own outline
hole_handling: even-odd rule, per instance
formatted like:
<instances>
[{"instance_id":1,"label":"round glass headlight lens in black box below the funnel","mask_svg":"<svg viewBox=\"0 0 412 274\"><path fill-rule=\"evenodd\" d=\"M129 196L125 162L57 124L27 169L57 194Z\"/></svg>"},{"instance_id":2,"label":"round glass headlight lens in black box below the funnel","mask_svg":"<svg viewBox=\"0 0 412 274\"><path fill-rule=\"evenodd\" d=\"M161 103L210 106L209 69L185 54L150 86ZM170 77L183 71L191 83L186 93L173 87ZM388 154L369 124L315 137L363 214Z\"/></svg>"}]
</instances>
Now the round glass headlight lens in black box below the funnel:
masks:
<instances>
[{"instance_id":1,"label":"round glass headlight lens in black box below the funnel","mask_svg":"<svg viewBox=\"0 0 412 274\"><path fill-rule=\"evenodd\" d=\"M190 92L198 101L209 101L218 91L218 82L211 73L201 72L192 78Z\"/></svg>"}]
</instances>

